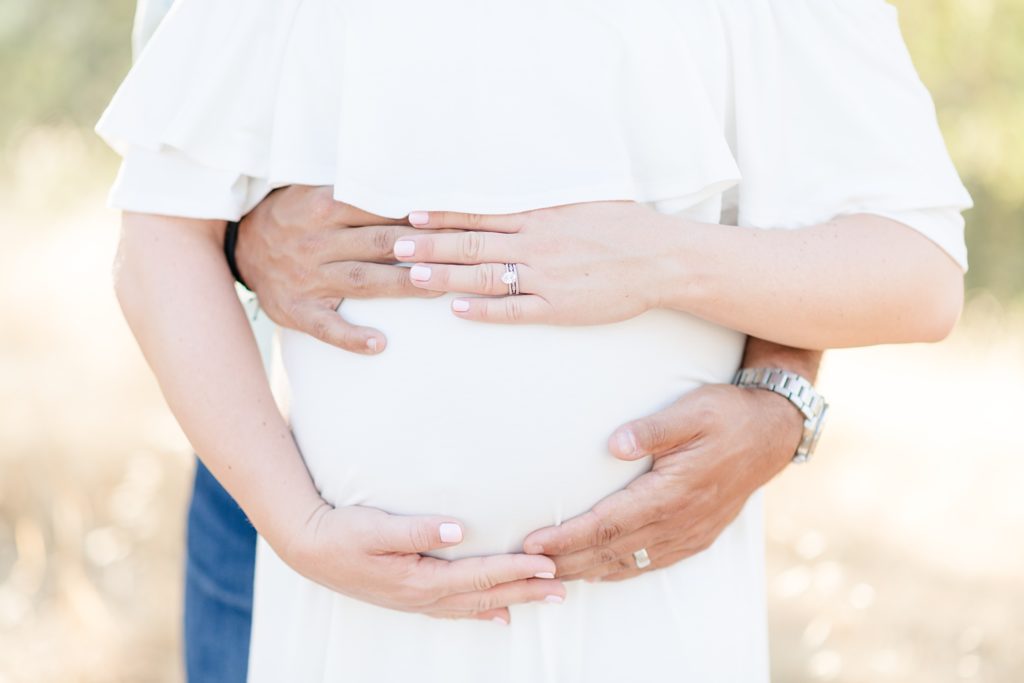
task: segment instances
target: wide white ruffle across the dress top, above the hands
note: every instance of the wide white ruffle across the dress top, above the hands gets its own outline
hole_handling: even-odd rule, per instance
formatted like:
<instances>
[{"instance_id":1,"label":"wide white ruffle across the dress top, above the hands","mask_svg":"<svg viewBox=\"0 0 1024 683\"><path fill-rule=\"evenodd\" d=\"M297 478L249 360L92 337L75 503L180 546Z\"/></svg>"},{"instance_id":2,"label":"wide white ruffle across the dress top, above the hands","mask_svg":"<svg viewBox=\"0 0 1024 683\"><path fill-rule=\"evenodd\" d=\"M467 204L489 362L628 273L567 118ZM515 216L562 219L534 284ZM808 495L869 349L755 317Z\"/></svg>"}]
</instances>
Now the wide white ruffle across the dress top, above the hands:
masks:
<instances>
[{"instance_id":1,"label":"wide white ruffle across the dress top, above the hands","mask_svg":"<svg viewBox=\"0 0 1024 683\"><path fill-rule=\"evenodd\" d=\"M119 187L154 155L219 178L206 203L160 182L160 211L195 217L295 183L389 217L720 198L795 227L971 205L881 0L178 0L97 131L148 155ZM919 229L966 261L955 229Z\"/></svg>"}]
</instances>

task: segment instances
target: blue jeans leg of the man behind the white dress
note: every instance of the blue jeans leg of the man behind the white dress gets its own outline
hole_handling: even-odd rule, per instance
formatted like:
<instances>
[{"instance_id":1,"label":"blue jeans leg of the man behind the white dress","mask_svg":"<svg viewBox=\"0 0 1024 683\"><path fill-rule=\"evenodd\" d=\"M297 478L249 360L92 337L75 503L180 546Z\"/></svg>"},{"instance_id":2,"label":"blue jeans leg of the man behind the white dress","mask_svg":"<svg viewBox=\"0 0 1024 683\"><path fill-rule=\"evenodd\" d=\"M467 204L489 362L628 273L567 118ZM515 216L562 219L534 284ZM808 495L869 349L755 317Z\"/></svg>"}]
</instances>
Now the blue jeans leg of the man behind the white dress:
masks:
<instances>
[{"instance_id":1,"label":"blue jeans leg of the man behind the white dress","mask_svg":"<svg viewBox=\"0 0 1024 683\"><path fill-rule=\"evenodd\" d=\"M255 563L256 530L197 461L185 565L188 683L245 683Z\"/></svg>"}]
</instances>

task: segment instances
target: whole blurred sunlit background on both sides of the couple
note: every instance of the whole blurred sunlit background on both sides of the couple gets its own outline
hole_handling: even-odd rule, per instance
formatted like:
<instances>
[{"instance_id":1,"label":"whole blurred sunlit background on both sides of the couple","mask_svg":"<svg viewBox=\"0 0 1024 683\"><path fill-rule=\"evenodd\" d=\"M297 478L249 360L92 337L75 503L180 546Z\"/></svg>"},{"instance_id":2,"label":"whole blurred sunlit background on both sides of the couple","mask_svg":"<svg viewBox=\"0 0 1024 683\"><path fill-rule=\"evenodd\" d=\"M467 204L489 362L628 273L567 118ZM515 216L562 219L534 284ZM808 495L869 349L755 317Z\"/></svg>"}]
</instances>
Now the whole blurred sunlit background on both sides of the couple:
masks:
<instances>
[{"instance_id":1,"label":"whole blurred sunlit background on both sides of the couple","mask_svg":"<svg viewBox=\"0 0 1024 683\"><path fill-rule=\"evenodd\" d=\"M866 1L866 0L865 0ZM191 460L112 295L132 0L0 2L0 683L180 681ZM828 354L769 490L774 680L1024 681L1024 2L898 0L977 208L933 346Z\"/></svg>"}]
</instances>

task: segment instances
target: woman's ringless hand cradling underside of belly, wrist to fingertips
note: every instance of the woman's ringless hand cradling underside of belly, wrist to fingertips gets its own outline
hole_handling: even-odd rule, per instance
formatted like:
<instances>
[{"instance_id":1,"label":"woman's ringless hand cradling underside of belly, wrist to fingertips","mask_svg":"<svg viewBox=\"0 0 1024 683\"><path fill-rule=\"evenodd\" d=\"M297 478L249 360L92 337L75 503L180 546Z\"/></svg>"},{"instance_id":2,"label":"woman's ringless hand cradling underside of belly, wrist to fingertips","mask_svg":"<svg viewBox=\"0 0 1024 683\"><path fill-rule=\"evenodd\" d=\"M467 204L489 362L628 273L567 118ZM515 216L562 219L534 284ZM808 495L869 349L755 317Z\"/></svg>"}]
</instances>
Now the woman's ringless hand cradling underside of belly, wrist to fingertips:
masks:
<instances>
[{"instance_id":1,"label":"woman's ringless hand cradling underside of belly, wrist to fingertips","mask_svg":"<svg viewBox=\"0 0 1024 683\"><path fill-rule=\"evenodd\" d=\"M430 616L510 621L508 605L561 602L565 588L543 555L493 555L445 561L425 557L458 545L444 517L408 517L325 503L283 557L296 571L338 593Z\"/></svg>"}]
</instances>

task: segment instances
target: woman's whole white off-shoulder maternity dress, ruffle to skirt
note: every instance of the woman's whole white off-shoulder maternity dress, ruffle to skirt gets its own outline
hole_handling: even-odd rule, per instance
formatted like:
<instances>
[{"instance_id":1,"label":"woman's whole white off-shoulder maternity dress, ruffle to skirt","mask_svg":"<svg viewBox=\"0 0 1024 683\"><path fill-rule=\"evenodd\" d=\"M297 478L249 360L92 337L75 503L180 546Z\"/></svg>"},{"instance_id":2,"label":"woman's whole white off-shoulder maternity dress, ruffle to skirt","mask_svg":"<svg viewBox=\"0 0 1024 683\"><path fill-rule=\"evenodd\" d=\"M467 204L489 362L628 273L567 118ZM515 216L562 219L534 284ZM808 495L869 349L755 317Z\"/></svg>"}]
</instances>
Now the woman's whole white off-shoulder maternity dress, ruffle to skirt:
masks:
<instances>
[{"instance_id":1,"label":"woman's whole white off-shoulder maternity dress, ruffle to skirt","mask_svg":"<svg viewBox=\"0 0 1024 683\"><path fill-rule=\"evenodd\" d=\"M97 129L133 211L233 219L303 183L392 217L610 199L763 228L872 212L966 267L970 198L878 0L178 0ZM641 474L609 432L727 382L744 343L674 311L505 327L450 299L343 302L387 334L379 356L282 334L325 499L453 515L466 540L443 557L519 550ZM261 544L250 680L765 681L763 584L758 495L705 553L573 583L507 628L335 595Z\"/></svg>"}]
</instances>

